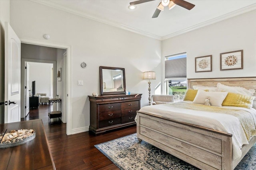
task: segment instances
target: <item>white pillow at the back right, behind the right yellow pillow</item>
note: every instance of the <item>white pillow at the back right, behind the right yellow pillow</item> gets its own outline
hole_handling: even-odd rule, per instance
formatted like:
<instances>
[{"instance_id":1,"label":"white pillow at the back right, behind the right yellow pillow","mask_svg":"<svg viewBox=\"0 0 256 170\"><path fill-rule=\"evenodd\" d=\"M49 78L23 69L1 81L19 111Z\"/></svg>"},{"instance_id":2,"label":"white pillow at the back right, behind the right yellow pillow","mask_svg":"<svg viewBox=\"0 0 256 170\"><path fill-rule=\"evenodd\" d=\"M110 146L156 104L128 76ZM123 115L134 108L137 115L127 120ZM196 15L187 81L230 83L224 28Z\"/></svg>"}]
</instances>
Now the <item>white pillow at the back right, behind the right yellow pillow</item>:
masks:
<instances>
[{"instance_id":1,"label":"white pillow at the back right, behind the right yellow pillow","mask_svg":"<svg viewBox=\"0 0 256 170\"><path fill-rule=\"evenodd\" d=\"M226 86L224 84L221 83L217 83L217 91L218 92L231 92L231 93L238 93L238 94L242 94L245 96L253 96L253 94L255 93L254 89L246 89L243 87L239 87L239 86Z\"/></svg>"}]
</instances>

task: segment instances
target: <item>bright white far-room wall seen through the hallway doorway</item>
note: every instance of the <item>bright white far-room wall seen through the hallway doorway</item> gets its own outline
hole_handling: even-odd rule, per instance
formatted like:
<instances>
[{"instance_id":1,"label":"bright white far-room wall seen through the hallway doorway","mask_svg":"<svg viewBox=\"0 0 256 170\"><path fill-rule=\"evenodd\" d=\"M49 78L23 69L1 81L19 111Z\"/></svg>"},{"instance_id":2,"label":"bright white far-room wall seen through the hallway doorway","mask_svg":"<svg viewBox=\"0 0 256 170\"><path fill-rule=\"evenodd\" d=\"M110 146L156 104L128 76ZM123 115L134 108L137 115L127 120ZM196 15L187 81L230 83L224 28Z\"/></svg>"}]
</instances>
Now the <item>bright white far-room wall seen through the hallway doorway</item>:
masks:
<instances>
[{"instance_id":1,"label":"bright white far-room wall seen through the hallway doorway","mask_svg":"<svg viewBox=\"0 0 256 170\"><path fill-rule=\"evenodd\" d=\"M32 81L36 81L36 93L46 93L46 96L50 96L53 64L33 62L28 64L30 87Z\"/></svg>"}]
</instances>

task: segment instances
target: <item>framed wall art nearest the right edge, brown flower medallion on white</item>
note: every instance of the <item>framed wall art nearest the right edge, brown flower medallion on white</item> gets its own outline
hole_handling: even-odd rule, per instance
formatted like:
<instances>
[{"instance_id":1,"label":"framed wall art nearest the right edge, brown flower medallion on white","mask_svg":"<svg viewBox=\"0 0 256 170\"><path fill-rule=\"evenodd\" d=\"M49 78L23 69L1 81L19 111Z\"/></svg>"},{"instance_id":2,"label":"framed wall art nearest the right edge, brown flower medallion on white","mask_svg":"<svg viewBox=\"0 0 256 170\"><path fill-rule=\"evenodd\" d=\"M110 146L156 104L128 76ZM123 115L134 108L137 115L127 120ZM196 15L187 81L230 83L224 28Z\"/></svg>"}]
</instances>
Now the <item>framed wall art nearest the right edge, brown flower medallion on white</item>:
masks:
<instances>
[{"instance_id":1,"label":"framed wall art nearest the right edge, brown flower medallion on white","mask_svg":"<svg viewBox=\"0 0 256 170\"><path fill-rule=\"evenodd\" d=\"M243 69L243 50L220 53L220 70Z\"/></svg>"}]
</instances>

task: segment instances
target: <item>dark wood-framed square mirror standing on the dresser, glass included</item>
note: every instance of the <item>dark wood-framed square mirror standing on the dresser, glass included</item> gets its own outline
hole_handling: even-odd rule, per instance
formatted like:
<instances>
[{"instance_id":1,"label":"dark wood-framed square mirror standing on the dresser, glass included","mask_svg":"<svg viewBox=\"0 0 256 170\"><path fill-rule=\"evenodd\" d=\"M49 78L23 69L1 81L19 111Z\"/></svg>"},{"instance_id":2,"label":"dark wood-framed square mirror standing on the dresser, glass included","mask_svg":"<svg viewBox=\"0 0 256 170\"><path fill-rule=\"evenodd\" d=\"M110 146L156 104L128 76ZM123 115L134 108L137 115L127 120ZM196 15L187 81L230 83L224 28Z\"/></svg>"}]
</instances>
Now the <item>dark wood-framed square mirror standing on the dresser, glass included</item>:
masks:
<instances>
[{"instance_id":1,"label":"dark wood-framed square mirror standing on the dresser, glass included","mask_svg":"<svg viewBox=\"0 0 256 170\"><path fill-rule=\"evenodd\" d=\"M100 66L101 95L126 94L124 68Z\"/></svg>"}]
</instances>

